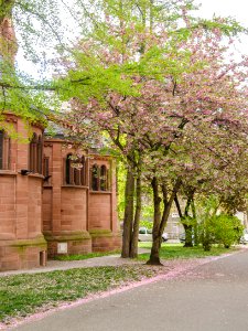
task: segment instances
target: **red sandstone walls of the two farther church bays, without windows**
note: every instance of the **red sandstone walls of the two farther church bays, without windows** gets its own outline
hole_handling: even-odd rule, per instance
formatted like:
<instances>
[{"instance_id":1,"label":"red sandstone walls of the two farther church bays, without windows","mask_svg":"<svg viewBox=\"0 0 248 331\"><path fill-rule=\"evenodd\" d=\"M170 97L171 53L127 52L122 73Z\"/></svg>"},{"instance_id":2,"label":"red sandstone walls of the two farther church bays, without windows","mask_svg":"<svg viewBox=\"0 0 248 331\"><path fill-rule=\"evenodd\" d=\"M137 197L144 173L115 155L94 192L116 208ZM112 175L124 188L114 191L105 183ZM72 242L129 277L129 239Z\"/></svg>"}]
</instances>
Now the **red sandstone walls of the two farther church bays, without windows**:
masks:
<instances>
[{"instance_id":1,"label":"red sandstone walls of the two farther church bays, without windows","mask_svg":"<svg viewBox=\"0 0 248 331\"><path fill-rule=\"evenodd\" d=\"M60 243L67 243L68 254L119 248L114 171L109 171L109 192L94 192L88 186L90 166L97 163L110 170L112 160L90 156L86 159L86 186L65 184L65 159L73 150L66 149L60 139L45 141L44 146L52 175L43 188L43 231L48 242L48 255L58 254ZM91 231L91 237L88 231Z\"/></svg>"}]
</instances>

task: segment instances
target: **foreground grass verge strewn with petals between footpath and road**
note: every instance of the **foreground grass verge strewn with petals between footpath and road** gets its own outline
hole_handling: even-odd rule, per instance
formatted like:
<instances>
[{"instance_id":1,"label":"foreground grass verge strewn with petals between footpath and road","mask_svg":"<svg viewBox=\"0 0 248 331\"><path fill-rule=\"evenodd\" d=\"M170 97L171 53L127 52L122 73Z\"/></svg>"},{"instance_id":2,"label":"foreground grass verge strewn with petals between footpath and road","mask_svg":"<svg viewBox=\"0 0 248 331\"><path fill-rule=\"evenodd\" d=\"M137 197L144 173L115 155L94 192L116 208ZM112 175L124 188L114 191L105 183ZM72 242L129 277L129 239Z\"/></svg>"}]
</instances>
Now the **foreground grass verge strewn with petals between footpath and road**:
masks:
<instances>
[{"instance_id":1,"label":"foreground grass verge strewn with petals between footpath and road","mask_svg":"<svg viewBox=\"0 0 248 331\"><path fill-rule=\"evenodd\" d=\"M60 302L85 298L158 273L157 268L136 265L1 277L0 322L8 323L12 318L47 310Z\"/></svg>"}]
</instances>

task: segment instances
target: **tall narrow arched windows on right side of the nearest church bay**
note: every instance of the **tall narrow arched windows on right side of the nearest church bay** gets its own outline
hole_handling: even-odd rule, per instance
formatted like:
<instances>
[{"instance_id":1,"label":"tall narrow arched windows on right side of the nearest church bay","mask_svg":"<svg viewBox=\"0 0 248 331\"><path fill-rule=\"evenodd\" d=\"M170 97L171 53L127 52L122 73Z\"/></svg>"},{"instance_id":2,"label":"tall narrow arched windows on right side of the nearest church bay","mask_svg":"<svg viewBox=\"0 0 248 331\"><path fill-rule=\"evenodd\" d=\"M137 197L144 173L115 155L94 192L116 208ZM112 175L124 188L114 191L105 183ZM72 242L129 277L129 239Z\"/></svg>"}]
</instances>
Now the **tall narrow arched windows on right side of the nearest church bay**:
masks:
<instances>
[{"instance_id":1,"label":"tall narrow arched windows on right side of the nearest church bay","mask_svg":"<svg viewBox=\"0 0 248 331\"><path fill-rule=\"evenodd\" d=\"M42 136L37 137L33 134L33 138L30 142L30 169L34 173L42 173L42 151L43 141Z\"/></svg>"}]
</instances>

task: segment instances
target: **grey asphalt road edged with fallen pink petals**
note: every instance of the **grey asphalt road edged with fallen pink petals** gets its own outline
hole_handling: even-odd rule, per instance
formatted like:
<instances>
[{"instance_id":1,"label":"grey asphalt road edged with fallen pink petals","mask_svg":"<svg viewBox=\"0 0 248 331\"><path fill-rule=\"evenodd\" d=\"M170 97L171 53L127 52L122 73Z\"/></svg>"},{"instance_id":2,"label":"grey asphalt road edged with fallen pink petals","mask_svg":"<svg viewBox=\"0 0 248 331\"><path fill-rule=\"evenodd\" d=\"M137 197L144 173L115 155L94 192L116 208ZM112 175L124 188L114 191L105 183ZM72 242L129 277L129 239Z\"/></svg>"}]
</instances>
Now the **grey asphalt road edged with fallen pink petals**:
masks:
<instances>
[{"instance_id":1,"label":"grey asphalt road edged with fallen pink petals","mask_svg":"<svg viewBox=\"0 0 248 331\"><path fill-rule=\"evenodd\" d=\"M184 276L65 309L22 331L248 330L248 249Z\"/></svg>"}]
</instances>

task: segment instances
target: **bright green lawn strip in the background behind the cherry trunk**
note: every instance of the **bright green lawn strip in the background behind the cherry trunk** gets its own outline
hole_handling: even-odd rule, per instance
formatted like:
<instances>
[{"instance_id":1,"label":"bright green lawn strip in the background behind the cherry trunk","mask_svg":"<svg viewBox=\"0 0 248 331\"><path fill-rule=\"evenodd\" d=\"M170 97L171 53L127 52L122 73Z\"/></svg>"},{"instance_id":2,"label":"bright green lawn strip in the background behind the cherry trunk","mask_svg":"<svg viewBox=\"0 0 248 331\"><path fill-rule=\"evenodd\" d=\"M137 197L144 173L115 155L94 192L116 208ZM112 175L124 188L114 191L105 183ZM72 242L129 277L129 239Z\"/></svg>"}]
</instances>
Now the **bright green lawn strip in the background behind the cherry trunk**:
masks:
<instances>
[{"instance_id":1,"label":"bright green lawn strip in the background behind the cherry trunk","mask_svg":"<svg viewBox=\"0 0 248 331\"><path fill-rule=\"evenodd\" d=\"M151 243L140 243L139 247L151 248ZM213 246L211 252L204 252L202 246L198 247L183 247L183 244L162 244L160 250L161 259L173 258L202 258L207 256L219 256L222 254L234 252L236 248L226 249L224 247ZM150 254L140 254L139 260L148 260Z\"/></svg>"}]
</instances>

